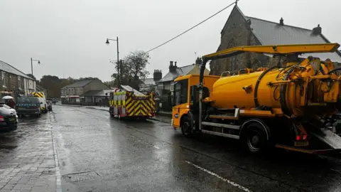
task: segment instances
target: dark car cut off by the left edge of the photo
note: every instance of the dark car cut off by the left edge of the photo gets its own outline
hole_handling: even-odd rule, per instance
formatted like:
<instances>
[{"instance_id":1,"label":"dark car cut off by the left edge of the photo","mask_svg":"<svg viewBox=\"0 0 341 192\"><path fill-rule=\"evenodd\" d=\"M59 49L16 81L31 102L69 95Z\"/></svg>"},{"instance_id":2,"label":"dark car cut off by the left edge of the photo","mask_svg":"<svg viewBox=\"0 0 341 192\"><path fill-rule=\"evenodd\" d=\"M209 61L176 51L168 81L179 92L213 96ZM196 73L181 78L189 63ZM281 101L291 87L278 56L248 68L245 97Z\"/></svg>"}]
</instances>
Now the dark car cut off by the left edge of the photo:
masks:
<instances>
[{"instance_id":1,"label":"dark car cut off by the left edge of the photo","mask_svg":"<svg viewBox=\"0 0 341 192\"><path fill-rule=\"evenodd\" d=\"M10 131L18 128L18 118L16 114L5 107L4 102L0 102L0 130Z\"/></svg>"}]
</instances>

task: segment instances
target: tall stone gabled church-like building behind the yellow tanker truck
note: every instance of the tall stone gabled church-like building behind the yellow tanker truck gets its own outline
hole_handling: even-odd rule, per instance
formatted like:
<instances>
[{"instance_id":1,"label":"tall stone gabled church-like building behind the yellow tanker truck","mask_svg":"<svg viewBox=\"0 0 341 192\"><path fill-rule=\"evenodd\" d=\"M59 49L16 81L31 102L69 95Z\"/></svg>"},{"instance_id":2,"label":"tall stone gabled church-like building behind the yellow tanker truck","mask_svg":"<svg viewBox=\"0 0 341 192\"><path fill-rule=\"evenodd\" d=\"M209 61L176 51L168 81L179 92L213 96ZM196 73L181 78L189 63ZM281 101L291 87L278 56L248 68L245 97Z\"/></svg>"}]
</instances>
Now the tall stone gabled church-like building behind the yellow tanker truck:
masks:
<instances>
[{"instance_id":1,"label":"tall stone gabled church-like building behind the yellow tanker truck","mask_svg":"<svg viewBox=\"0 0 341 192\"><path fill-rule=\"evenodd\" d=\"M330 43L323 36L320 25L313 29L289 26L284 23L283 18L279 22L265 21L261 18L244 16L236 5L232 9L227 22L221 31L221 42L217 51L232 48L235 46L269 46L283 44L312 44ZM341 53L310 53L301 55L307 58L309 55L318 57L321 60L330 58L336 62L335 67L341 63ZM220 75L224 71L232 73L241 68L259 68L278 65L280 58L273 58L269 54L242 53L230 58L212 60L210 63L211 75Z\"/></svg>"}]
</instances>

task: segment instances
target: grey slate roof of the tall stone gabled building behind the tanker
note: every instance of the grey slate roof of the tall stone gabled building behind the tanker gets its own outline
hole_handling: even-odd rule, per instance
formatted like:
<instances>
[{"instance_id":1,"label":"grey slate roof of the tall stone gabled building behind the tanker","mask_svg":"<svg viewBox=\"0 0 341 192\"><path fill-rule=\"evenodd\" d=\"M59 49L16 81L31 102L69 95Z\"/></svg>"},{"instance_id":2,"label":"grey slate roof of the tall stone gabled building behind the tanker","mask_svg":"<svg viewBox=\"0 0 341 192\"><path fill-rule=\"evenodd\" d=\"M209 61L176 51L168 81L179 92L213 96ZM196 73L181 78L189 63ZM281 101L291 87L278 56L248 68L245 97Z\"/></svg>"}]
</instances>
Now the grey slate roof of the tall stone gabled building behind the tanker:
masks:
<instances>
[{"instance_id":1,"label":"grey slate roof of the tall stone gabled building behind the tanker","mask_svg":"<svg viewBox=\"0 0 341 192\"><path fill-rule=\"evenodd\" d=\"M299 28L296 26L279 25L272 21L265 21L260 18L246 16L251 21L252 32L264 46L285 45L285 44L315 44L330 43L323 34L313 34L313 30ZM341 53L308 53L302 54L301 58L307 58L309 55L318 57L321 60L330 60L341 63Z\"/></svg>"}]
</instances>

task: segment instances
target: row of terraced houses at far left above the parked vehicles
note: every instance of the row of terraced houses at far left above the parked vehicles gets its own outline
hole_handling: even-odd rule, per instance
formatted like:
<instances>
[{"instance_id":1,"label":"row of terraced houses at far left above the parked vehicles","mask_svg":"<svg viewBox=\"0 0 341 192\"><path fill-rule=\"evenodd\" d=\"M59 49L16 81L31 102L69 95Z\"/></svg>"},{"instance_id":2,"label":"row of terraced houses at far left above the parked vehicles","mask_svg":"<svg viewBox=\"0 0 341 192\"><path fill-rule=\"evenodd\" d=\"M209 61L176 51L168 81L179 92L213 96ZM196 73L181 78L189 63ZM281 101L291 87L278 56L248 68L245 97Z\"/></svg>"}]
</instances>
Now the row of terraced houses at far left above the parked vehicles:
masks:
<instances>
[{"instance_id":1,"label":"row of terraced houses at far left above the parked vehicles","mask_svg":"<svg viewBox=\"0 0 341 192\"><path fill-rule=\"evenodd\" d=\"M0 60L0 91L13 91L15 95L29 95L36 91L36 80Z\"/></svg>"}]
</instances>

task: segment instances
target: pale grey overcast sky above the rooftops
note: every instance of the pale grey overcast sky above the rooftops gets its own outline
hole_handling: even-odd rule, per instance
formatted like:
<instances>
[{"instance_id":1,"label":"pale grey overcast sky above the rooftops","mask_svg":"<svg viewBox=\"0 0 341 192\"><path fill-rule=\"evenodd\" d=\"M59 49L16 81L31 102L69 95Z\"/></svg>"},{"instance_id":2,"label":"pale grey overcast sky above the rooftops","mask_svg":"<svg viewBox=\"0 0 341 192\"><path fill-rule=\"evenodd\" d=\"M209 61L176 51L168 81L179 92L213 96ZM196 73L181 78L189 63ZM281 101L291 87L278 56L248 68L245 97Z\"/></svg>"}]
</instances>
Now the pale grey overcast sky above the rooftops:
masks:
<instances>
[{"instance_id":1,"label":"pale grey overcast sky above the rooftops","mask_svg":"<svg viewBox=\"0 0 341 192\"><path fill-rule=\"evenodd\" d=\"M281 3L280 3L281 2ZM119 36L120 58L132 50L149 50L194 26L230 0L0 0L0 60L23 73L60 78L97 77L110 80L117 59L114 41ZM332 42L341 43L340 0L241 0L246 16L302 28L318 24ZM150 53L148 70L168 72L170 60L194 63L220 44L220 31L232 10L218 14L192 31ZM335 14L335 16L332 16Z\"/></svg>"}]
</instances>

